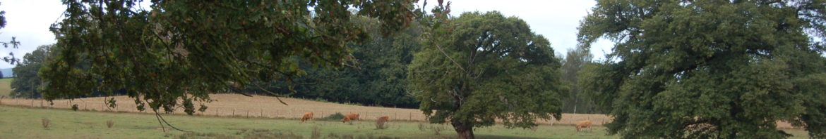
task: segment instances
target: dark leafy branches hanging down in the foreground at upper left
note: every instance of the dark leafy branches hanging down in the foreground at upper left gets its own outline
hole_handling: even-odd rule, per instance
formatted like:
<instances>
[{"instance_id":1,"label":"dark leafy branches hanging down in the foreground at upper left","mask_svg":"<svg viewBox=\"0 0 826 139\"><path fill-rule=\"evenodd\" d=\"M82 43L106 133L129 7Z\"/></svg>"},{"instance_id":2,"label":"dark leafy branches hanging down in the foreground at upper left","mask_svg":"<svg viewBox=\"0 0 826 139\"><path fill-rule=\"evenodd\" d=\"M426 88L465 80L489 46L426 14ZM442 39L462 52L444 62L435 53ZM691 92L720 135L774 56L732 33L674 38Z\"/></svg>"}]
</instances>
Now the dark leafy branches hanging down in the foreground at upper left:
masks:
<instances>
[{"instance_id":1,"label":"dark leafy branches hanging down in the foreground at upper left","mask_svg":"<svg viewBox=\"0 0 826 139\"><path fill-rule=\"evenodd\" d=\"M302 59L351 62L346 44L369 37L352 16L377 18L385 33L415 16L409 0L152 1L151 11L138 2L64 0L65 18L51 28L58 55L40 72L46 100L124 91L150 109L185 104L192 114L187 102L211 92L304 75Z\"/></svg>"}]
</instances>

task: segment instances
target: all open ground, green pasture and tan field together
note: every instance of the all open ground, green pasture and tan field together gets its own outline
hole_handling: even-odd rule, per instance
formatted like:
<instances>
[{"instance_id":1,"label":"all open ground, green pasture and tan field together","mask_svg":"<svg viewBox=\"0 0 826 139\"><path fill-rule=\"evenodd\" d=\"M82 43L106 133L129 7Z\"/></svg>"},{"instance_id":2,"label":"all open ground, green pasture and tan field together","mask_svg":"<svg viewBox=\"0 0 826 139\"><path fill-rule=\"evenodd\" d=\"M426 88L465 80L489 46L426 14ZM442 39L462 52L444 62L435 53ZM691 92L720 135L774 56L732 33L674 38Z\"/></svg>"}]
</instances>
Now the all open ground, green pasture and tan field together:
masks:
<instances>
[{"instance_id":1,"label":"all open ground, green pasture and tan field together","mask_svg":"<svg viewBox=\"0 0 826 139\"><path fill-rule=\"evenodd\" d=\"M6 84L3 84L6 83ZM6 93L10 81L0 80L0 93ZM117 100L118 107L103 106L108 98ZM270 96L247 97L235 94L211 95L206 112L195 116L163 114L173 126L189 132L162 128L154 113L137 111L134 100L126 96L92 97L77 100L0 99L0 139L2 138L454 138L448 124L423 122L419 109L368 107L335 104L317 100L281 98L288 105ZM79 111L70 110L78 104ZM300 123L305 112L315 113L315 121ZM338 120L322 120L335 113L359 113L364 121L353 125ZM375 127L375 117L387 115L387 129ZM591 119L591 132L575 132L573 123ZM43 120L48 119L48 127ZM107 121L113 126L107 127ZM603 114L563 114L561 121L539 121L534 129L506 128L501 125L477 128L478 138L619 138L607 136L602 123L610 122ZM782 127L781 127L782 128ZM165 132L164 132L164 129ZM805 131L786 129L795 137L808 138Z\"/></svg>"}]
</instances>

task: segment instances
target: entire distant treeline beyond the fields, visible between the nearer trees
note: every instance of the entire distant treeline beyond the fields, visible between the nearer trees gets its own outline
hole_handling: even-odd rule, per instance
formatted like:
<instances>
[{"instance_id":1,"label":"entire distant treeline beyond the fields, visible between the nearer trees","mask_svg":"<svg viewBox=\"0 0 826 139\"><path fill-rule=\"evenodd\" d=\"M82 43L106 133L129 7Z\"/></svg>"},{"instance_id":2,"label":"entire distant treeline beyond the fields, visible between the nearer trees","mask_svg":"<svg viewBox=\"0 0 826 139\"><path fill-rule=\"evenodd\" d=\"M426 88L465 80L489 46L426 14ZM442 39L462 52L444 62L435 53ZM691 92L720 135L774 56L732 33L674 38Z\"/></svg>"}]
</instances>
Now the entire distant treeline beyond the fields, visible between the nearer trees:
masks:
<instances>
[{"instance_id":1,"label":"entire distant treeline beyond the fields, visible between the nearer trees","mask_svg":"<svg viewBox=\"0 0 826 139\"><path fill-rule=\"evenodd\" d=\"M412 24L396 34L382 35L381 25L376 19L363 16L354 18L357 18L354 21L363 25L372 38L368 43L348 44L355 59L354 63L347 64L348 67L314 67L306 62L306 59L295 58L301 61L298 66L306 71L303 76L277 81L254 81L254 85L239 86L227 92L258 95L273 93L338 103L419 108L414 93L407 89L406 73L413 53L419 52L424 45L421 38L424 32L422 27ZM23 63L14 67L17 78L12 81L12 97L42 97L38 91L42 82L37 75L40 67L44 67L48 62L47 59L55 55L53 48L52 45L40 46L34 52L27 53ZM571 88L570 94L563 98L564 113L605 113L577 89L577 72L586 64L591 64L591 58L591 53L587 49L569 49L565 58L558 58L563 63L560 70L563 72L563 80L567 81L567 86ZM88 63L81 63L76 67L86 70L83 67L88 67ZM82 97L125 94L125 91L97 91Z\"/></svg>"}]
</instances>

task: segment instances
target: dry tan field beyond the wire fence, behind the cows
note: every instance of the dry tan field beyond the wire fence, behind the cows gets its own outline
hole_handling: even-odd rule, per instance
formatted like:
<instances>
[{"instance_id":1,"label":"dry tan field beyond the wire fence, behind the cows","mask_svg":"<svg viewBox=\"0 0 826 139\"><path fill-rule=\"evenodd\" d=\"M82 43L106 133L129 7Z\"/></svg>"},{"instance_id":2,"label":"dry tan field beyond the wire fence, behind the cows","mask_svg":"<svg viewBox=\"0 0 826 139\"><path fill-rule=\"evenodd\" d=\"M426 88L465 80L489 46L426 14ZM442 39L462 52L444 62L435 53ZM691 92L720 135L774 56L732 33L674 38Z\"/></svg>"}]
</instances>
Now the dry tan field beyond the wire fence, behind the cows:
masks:
<instances>
[{"instance_id":1,"label":"dry tan field beyond the wire fence, behind the cows","mask_svg":"<svg viewBox=\"0 0 826 139\"><path fill-rule=\"evenodd\" d=\"M422 114L419 109L396 109L281 98L281 100L287 103L287 105L284 105L279 103L278 99L275 97L261 95L249 97L237 94L215 94L210 95L210 97L214 101L206 104L208 107L207 111L197 112L197 115L301 118L301 116L303 116L306 112L312 112L316 115L316 118L325 117L335 113L358 113L363 119L375 119L381 116L388 116L391 120L424 121L425 119L425 115ZM115 109L105 107L104 101L108 98L114 98L118 107ZM139 112L135 109L135 100L126 96L55 100L53 102L54 104L50 105L48 101L44 100L5 99L0 103L61 109L69 109L72 104L78 104L78 109L82 110ZM150 112L145 111L143 113ZM174 114L184 114L183 109L175 109ZM539 123L548 125L574 125L577 124L578 121L586 120L588 118L590 118L591 121L593 121L597 126L610 122L610 118L605 114L563 114L563 118L560 121L539 120Z\"/></svg>"}]
</instances>

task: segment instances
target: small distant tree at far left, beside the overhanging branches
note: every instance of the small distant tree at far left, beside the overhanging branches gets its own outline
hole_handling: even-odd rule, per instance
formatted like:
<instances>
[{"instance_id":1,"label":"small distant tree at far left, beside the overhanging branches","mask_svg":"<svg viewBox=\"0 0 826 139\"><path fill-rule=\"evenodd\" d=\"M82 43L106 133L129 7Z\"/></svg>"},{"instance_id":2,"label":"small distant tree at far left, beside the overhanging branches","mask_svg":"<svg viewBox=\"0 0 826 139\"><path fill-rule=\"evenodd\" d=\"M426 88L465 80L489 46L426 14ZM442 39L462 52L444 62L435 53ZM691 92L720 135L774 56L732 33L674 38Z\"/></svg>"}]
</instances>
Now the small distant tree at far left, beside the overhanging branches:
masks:
<instances>
[{"instance_id":1,"label":"small distant tree at far left, beside the overhanging branches","mask_svg":"<svg viewBox=\"0 0 826 139\"><path fill-rule=\"evenodd\" d=\"M52 45L40 45L31 53L26 53L23 56L23 63L17 64L17 67L12 68L17 77L12 81L12 92L9 96L17 98L37 99L40 98L40 78L37 72L40 67L47 63L47 58L50 56Z\"/></svg>"}]
</instances>

